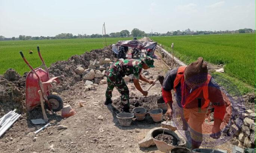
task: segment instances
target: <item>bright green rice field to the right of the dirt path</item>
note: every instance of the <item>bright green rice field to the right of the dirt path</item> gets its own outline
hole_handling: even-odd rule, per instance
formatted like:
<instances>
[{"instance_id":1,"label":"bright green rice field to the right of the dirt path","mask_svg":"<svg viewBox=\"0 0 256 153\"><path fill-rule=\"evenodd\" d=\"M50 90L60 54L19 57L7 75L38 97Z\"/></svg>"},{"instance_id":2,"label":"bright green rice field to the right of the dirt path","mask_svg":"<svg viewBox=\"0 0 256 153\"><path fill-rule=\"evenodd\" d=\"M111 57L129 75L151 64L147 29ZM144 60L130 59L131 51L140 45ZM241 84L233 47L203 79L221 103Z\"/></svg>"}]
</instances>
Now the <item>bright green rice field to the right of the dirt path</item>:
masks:
<instances>
[{"instance_id":1,"label":"bright green rice field to the right of the dirt path","mask_svg":"<svg viewBox=\"0 0 256 153\"><path fill-rule=\"evenodd\" d=\"M255 34L151 37L167 51L189 64L203 57L224 64L225 74L255 87Z\"/></svg>"}]
</instances>

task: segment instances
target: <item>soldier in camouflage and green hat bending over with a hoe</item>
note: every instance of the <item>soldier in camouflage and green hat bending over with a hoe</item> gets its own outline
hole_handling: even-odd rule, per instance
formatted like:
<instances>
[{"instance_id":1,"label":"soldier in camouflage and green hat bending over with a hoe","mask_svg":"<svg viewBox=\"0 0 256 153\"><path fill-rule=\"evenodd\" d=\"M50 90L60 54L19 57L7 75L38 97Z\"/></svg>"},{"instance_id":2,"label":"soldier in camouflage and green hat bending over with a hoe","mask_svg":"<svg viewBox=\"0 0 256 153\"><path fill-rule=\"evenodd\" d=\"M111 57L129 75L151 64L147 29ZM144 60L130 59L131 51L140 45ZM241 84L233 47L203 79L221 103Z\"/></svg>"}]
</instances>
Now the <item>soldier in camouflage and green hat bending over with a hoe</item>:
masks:
<instances>
[{"instance_id":1,"label":"soldier in camouflage and green hat bending over with a hoe","mask_svg":"<svg viewBox=\"0 0 256 153\"><path fill-rule=\"evenodd\" d=\"M154 68L154 60L146 56L139 60L136 59L125 59L115 62L110 68L106 71L108 87L106 90L106 101L105 105L112 103L112 91L117 88L118 92L121 94L121 101L124 104L123 111L129 112L129 89L123 79L125 75L133 74L133 83L144 96L148 95L147 91L144 91L140 84L139 79L149 84L153 83L153 80L146 79L141 75L142 68L149 69Z\"/></svg>"}]
</instances>

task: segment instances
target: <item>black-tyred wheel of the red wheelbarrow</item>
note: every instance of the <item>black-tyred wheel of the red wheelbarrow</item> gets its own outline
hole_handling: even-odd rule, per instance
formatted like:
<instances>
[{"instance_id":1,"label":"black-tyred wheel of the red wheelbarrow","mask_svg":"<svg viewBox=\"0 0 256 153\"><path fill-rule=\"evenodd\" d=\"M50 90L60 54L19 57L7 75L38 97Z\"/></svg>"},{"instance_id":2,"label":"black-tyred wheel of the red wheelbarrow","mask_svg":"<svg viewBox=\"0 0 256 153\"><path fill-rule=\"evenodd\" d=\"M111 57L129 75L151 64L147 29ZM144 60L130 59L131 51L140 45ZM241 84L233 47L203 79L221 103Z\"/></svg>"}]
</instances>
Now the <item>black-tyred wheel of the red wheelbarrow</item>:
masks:
<instances>
[{"instance_id":1,"label":"black-tyred wheel of the red wheelbarrow","mask_svg":"<svg viewBox=\"0 0 256 153\"><path fill-rule=\"evenodd\" d=\"M47 98L48 98L48 101L49 101L50 105L52 105L52 110L54 112L60 111L63 108L62 98L59 97L58 95L49 95ZM45 107L48 110L50 110L47 103L45 103Z\"/></svg>"}]
</instances>

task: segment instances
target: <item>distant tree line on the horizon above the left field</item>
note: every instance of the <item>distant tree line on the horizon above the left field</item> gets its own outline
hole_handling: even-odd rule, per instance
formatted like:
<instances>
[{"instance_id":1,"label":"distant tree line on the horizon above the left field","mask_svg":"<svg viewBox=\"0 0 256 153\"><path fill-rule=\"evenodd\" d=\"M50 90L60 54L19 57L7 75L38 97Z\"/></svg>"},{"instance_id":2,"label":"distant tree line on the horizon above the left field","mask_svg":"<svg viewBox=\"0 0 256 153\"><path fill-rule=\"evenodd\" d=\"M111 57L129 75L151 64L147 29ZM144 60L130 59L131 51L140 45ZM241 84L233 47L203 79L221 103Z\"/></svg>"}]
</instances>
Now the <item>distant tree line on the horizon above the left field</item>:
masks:
<instances>
[{"instance_id":1,"label":"distant tree line on the horizon above the left field","mask_svg":"<svg viewBox=\"0 0 256 153\"><path fill-rule=\"evenodd\" d=\"M120 32L112 32L106 35L101 34L92 34L92 35L86 35L86 34L77 34L73 35L72 33L60 33L56 36L25 36L25 35L19 35L18 38L12 37L12 38L5 38L4 36L0 36L0 40L42 40L42 39L76 39L76 38L115 38L115 37L141 37L146 36L146 33L142 30L139 30L137 28L134 28L131 33L129 30L121 30Z\"/></svg>"}]
</instances>

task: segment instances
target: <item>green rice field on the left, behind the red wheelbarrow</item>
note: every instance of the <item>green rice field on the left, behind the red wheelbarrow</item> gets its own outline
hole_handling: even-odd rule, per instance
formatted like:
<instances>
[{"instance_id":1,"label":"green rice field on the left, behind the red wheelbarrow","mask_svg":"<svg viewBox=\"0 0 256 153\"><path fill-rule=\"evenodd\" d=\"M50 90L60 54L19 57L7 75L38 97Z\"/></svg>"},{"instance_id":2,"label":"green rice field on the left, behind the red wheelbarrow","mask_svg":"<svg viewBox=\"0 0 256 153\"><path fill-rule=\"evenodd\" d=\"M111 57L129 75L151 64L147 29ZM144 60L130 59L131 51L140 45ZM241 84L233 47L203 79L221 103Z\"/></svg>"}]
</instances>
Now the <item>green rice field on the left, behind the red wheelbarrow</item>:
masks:
<instances>
[{"instance_id":1,"label":"green rice field on the left, behind the red wheelbarrow","mask_svg":"<svg viewBox=\"0 0 256 153\"><path fill-rule=\"evenodd\" d=\"M117 43L118 40L130 39L132 38L107 38L107 45ZM40 46L41 55L47 66L56 61L67 60L72 55L81 55L92 49L103 48L102 38L0 41L0 74L9 68L15 69L21 75L30 71L19 51L23 52L33 68L40 66L37 46ZM28 50L32 50L33 54L29 54Z\"/></svg>"}]
</instances>

